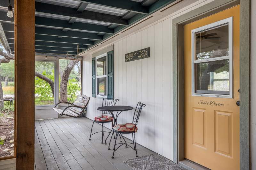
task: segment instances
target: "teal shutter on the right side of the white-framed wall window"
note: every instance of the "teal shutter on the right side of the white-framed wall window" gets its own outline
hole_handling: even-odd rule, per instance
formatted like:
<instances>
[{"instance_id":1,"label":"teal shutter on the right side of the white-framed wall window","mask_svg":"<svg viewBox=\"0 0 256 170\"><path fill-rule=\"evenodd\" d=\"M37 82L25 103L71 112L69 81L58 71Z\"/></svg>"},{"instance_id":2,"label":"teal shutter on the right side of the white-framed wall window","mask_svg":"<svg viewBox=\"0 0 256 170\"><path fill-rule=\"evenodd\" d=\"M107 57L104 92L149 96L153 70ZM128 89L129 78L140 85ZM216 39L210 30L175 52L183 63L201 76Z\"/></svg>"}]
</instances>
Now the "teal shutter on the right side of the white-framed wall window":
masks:
<instances>
[{"instance_id":1,"label":"teal shutter on the right side of the white-framed wall window","mask_svg":"<svg viewBox=\"0 0 256 170\"><path fill-rule=\"evenodd\" d=\"M114 98L114 55L113 50L108 52L108 98Z\"/></svg>"}]
</instances>

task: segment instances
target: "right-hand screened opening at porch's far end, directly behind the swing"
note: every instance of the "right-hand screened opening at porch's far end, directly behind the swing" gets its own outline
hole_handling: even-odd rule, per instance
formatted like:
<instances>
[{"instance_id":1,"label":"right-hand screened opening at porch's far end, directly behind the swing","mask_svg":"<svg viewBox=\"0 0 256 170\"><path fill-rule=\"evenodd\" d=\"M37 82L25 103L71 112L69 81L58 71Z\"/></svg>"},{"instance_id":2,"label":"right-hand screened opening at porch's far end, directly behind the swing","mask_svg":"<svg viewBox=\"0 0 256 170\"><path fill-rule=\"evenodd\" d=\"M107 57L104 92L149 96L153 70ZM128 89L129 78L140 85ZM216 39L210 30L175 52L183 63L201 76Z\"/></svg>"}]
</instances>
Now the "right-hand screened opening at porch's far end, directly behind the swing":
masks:
<instances>
[{"instance_id":1,"label":"right-hand screened opening at porch's far end, directly behind the swing","mask_svg":"<svg viewBox=\"0 0 256 170\"><path fill-rule=\"evenodd\" d=\"M81 72L81 60L59 59L59 101L73 103L76 100L82 91Z\"/></svg>"}]
</instances>

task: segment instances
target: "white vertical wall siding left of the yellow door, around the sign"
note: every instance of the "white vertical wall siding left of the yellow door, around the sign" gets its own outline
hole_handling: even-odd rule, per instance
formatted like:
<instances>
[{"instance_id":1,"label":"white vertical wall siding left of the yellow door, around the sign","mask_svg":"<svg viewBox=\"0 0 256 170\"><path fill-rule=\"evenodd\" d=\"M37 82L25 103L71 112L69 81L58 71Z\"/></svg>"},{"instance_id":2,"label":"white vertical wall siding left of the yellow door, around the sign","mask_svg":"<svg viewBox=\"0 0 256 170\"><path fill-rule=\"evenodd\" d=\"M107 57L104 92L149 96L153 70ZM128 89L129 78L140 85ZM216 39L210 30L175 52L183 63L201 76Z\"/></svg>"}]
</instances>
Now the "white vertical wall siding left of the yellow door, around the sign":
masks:
<instances>
[{"instance_id":1,"label":"white vertical wall siding left of the yellow door, around the sign","mask_svg":"<svg viewBox=\"0 0 256 170\"><path fill-rule=\"evenodd\" d=\"M117 105L143 108L136 134L137 143L172 159L172 56L171 19L124 38L114 44L114 98ZM150 58L124 62L124 54L150 47ZM92 92L91 57L84 58L84 94ZM100 112L102 100L91 98L87 117ZM123 112L118 123L132 122L133 111ZM110 128L110 124L106 126ZM132 138L131 135L126 135Z\"/></svg>"}]
</instances>

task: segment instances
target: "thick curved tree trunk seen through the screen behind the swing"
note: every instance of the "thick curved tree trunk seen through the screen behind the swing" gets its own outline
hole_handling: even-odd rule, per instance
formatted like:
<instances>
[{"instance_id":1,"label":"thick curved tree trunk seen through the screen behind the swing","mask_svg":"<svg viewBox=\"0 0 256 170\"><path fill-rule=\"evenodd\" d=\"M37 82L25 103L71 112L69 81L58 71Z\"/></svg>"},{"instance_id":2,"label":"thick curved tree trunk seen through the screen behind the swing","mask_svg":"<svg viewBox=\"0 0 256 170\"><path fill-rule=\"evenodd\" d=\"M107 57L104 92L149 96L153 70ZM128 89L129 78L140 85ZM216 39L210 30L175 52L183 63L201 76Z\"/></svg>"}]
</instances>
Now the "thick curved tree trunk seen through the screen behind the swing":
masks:
<instances>
[{"instance_id":1,"label":"thick curved tree trunk seen through the screen behind the swing","mask_svg":"<svg viewBox=\"0 0 256 170\"><path fill-rule=\"evenodd\" d=\"M78 60L71 60L68 63L68 66L63 71L61 81L60 81L60 101L68 101L67 99L67 87L68 87L68 78L73 67L78 63Z\"/></svg>"}]
</instances>

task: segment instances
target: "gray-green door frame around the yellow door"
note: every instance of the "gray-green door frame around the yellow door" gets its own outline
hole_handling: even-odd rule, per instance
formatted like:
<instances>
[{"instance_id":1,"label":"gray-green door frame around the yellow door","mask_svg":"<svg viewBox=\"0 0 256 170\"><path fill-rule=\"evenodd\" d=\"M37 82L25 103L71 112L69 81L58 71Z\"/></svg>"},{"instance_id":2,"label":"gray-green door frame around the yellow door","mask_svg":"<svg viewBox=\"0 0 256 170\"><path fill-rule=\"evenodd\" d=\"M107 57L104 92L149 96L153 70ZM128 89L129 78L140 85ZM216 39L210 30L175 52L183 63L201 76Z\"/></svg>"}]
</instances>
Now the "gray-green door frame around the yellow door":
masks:
<instances>
[{"instance_id":1,"label":"gray-green door frame around the yellow door","mask_svg":"<svg viewBox=\"0 0 256 170\"><path fill-rule=\"evenodd\" d=\"M240 4L240 169L250 169L251 0L215 0L172 20L173 162L184 160L184 25ZM182 88L180 88L182 87ZM187 166L189 168L190 166Z\"/></svg>"}]
</instances>

